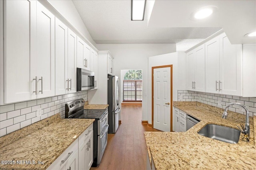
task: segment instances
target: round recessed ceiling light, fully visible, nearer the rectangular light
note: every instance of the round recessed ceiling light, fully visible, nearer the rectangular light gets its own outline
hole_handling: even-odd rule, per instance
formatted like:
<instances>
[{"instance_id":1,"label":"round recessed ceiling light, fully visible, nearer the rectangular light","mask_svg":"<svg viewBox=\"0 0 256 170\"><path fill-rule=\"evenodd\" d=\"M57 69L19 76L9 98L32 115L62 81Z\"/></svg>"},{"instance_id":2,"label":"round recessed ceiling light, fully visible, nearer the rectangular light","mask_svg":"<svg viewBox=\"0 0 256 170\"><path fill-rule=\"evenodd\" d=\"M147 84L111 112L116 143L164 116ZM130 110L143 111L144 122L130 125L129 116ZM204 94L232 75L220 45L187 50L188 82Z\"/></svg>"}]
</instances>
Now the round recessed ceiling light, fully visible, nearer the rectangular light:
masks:
<instances>
[{"instance_id":1,"label":"round recessed ceiling light, fully visible, nearer the rectangular light","mask_svg":"<svg viewBox=\"0 0 256 170\"><path fill-rule=\"evenodd\" d=\"M206 6L206 7L200 8L192 12L192 14L190 15L190 20L194 20L194 21L203 20L211 16L216 10L217 10L216 6Z\"/></svg>"}]
</instances>

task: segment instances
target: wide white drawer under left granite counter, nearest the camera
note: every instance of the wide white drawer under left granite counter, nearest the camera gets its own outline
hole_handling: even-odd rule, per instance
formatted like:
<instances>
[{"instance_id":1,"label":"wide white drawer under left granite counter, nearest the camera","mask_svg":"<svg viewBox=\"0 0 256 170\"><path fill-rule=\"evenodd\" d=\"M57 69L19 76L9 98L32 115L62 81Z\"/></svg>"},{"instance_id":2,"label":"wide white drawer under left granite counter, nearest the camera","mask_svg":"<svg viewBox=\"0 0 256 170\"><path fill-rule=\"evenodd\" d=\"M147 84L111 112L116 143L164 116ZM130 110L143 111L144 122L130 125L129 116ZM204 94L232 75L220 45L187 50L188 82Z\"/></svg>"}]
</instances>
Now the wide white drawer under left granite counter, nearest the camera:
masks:
<instances>
[{"instance_id":1,"label":"wide white drawer under left granite counter, nearest the camera","mask_svg":"<svg viewBox=\"0 0 256 170\"><path fill-rule=\"evenodd\" d=\"M78 139L74 141L46 170L58 170L65 167L76 151L78 150Z\"/></svg>"}]
</instances>

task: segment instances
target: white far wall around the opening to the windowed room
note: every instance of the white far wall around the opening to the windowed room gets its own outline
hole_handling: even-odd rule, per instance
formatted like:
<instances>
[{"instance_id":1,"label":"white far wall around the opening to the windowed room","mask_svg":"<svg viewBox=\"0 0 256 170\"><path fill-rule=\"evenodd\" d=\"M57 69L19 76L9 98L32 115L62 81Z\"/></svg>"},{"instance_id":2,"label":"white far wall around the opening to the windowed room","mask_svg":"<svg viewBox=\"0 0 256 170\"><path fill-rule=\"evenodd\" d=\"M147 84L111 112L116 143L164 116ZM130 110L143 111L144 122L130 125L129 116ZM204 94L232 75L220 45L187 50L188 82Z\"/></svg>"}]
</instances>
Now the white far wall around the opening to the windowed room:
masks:
<instances>
[{"instance_id":1,"label":"white far wall around the opening to the windowed room","mask_svg":"<svg viewBox=\"0 0 256 170\"><path fill-rule=\"evenodd\" d=\"M148 120L148 57L175 52L176 44L97 44L96 48L112 53L115 76L120 77L121 70L142 70L142 120Z\"/></svg>"}]
</instances>

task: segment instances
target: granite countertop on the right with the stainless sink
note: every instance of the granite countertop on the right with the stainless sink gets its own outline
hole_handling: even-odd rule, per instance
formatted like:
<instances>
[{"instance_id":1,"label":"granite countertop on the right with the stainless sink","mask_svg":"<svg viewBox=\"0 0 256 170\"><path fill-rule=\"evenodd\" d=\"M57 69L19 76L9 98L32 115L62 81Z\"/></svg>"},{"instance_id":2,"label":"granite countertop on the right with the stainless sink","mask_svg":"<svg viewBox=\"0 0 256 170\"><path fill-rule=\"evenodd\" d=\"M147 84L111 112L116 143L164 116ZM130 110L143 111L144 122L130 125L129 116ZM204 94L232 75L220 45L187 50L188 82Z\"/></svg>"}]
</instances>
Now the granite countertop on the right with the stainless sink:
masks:
<instances>
[{"instance_id":1,"label":"granite countertop on the right with the stainless sink","mask_svg":"<svg viewBox=\"0 0 256 170\"><path fill-rule=\"evenodd\" d=\"M186 132L144 132L156 169L256 169L256 116L250 121L250 142L242 141L241 133L237 144L229 144L197 132L210 123L238 129L236 125L244 121L222 119L220 114L198 106L174 107L201 121Z\"/></svg>"}]
</instances>

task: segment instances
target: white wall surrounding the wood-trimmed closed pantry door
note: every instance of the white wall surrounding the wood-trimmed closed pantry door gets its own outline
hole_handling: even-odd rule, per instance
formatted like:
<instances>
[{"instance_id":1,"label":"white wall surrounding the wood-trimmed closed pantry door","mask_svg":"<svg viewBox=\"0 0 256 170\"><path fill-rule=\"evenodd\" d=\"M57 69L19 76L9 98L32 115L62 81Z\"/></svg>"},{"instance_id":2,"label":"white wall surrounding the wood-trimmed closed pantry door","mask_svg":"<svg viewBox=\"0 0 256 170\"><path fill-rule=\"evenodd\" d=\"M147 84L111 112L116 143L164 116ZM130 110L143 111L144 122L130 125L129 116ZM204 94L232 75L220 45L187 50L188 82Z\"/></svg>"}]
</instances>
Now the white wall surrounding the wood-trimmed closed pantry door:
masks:
<instances>
[{"instance_id":1,"label":"white wall surrounding the wood-trimmed closed pantry door","mask_svg":"<svg viewBox=\"0 0 256 170\"><path fill-rule=\"evenodd\" d=\"M172 99L173 101L178 101L178 90L186 88L185 61L186 53L184 52L169 53L148 58L148 123L152 124L152 67L172 64ZM174 129L174 121L172 128Z\"/></svg>"}]
</instances>

